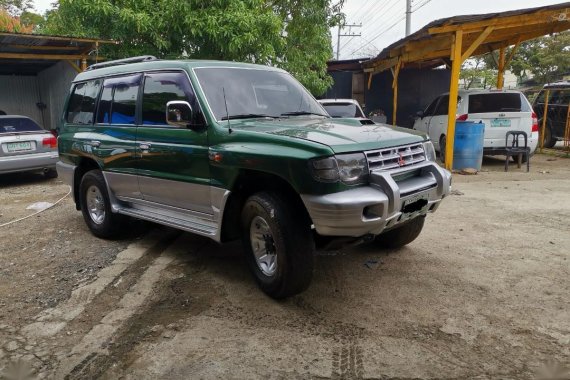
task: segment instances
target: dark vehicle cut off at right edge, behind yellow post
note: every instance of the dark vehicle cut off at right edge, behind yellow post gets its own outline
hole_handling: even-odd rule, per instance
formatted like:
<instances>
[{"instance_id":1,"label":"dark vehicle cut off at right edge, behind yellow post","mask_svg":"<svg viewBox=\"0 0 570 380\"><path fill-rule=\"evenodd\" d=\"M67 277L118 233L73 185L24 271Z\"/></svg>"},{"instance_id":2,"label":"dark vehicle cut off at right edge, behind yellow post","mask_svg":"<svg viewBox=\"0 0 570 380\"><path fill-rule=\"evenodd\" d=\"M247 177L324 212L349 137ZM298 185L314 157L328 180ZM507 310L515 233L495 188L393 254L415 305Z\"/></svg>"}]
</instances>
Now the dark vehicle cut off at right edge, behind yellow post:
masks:
<instances>
[{"instance_id":1,"label":"dark vehicle cut off at right edge, behind yellow post","mask_svg":"<svg viewBox=\"0 0 570 380\"><path fill-rule=\"evenodd\" d=\"M568 118L568 103L570 103L570 82L563 81L546 84L534 100L532 107L538 116L540 131L542 131L547 90L550 90L550 94L548 96L548 117L546 118L544 130L544 146L552 148L557 141L564 139Z\"/></svg>"}]
</instances>

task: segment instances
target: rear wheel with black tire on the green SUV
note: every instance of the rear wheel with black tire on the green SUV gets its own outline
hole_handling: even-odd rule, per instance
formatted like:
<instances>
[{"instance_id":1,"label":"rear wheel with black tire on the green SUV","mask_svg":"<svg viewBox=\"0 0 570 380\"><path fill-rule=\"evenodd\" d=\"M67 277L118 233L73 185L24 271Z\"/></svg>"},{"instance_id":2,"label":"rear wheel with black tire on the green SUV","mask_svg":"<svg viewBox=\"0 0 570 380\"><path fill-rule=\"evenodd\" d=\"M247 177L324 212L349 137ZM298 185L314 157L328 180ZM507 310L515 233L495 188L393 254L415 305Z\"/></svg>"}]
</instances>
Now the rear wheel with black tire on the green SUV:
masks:
<instances>
[{"instance_id":1,"label":"rear wheel with black tire on the green SUV","mask_svg":"<svg viewBox=\"0 0 570 380\"><path fill-rule=\"evenodd\" d=\"M97 212L101 212L99 220L90 212L91 201L88 200L88 192L91 193L89 197L96 197L97 199L94 202L98 206ZM91 170L81 178L79 200L83 218L93 235L103 239L111 239L117 237L125 229L127 217L111 211L107 185L100 170Z\"/></svg>"}]
</instances>

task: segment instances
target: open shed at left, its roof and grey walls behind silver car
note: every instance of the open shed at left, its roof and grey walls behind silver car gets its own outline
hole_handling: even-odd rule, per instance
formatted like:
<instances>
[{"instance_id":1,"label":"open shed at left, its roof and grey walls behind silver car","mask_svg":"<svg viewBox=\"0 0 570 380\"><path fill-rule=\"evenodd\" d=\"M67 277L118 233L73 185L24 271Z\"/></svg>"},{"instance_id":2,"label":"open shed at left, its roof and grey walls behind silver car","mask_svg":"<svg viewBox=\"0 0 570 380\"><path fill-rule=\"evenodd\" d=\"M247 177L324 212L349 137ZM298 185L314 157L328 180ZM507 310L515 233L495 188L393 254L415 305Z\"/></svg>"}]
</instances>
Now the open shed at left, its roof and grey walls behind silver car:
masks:
<instances>
[{"instance_id":1,"label":"open shed at left, its roof and grey walls behind silver car","mask_svg":"<svg viewBox=\"0 0 570 380\"><path fill-rule=\"evenodd\" d=\"M93 38L0 32L0 110L31 117L53 129L71 81L104 58Z\"/></svg>"}]
</instances>

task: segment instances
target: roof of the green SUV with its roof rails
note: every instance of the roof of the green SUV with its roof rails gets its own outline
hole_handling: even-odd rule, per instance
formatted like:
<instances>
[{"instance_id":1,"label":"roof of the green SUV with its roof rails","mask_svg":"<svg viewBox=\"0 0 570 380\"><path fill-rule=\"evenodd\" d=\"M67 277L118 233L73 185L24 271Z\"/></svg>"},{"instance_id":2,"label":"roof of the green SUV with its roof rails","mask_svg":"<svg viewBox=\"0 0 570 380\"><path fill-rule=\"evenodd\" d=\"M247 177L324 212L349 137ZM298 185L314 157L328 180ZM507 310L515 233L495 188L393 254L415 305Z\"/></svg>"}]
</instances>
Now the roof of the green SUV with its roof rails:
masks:
<instances>
[{"instance_id":1,"label":"roof of the green SUV with its roof rails","mask_svg":"<svg viewBox=\"0 0 570 380\"><path fill-rule=\"evenodd\" d=\"M169 69L192 70L198 68L223 68L223 67L278 71L283 73L286 72L276 67L257 65L253 63L244 63L244 62L213 61L213 60L198 60L198 59L186 59L186 60L156 59L145 62L107 66L107 67L102 67L100 69L87 70L82 73L79 73L77 77L75 77L74 82L81 82L89 79L101 78L118 74L140 72L140 71L148 71L148 70L169 70Z\"/></svg>"}]
</instances>

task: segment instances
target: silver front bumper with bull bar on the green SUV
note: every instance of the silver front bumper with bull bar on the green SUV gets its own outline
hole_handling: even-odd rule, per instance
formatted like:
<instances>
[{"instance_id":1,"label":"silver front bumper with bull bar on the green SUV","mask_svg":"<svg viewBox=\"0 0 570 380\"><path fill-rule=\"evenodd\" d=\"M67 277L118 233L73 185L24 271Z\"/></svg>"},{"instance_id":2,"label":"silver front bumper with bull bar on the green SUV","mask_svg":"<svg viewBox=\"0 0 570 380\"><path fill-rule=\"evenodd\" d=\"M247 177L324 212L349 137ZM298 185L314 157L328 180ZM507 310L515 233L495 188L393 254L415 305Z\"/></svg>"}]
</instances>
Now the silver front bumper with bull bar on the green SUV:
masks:
<instances>
[{"instance_id":1,"label":"silver front bumper with bull bar on the green SUV","mask_svg":"<svg viewBox=\"0 0 570 380\"><path fill-rule=\"evenodd\" d=\"M324 236L378 235L433 212L449 194L451 173L431 161L392 171L373 171L370 186L325 195L301 195L316 231ZM409 212L404 205L427 202Z\"/></svg>"}]
</instances>

